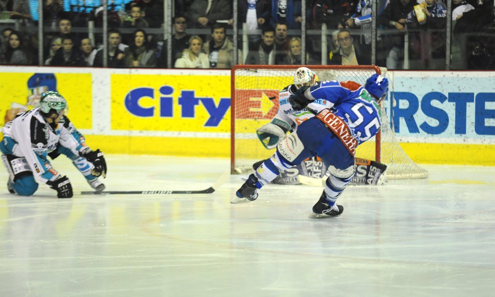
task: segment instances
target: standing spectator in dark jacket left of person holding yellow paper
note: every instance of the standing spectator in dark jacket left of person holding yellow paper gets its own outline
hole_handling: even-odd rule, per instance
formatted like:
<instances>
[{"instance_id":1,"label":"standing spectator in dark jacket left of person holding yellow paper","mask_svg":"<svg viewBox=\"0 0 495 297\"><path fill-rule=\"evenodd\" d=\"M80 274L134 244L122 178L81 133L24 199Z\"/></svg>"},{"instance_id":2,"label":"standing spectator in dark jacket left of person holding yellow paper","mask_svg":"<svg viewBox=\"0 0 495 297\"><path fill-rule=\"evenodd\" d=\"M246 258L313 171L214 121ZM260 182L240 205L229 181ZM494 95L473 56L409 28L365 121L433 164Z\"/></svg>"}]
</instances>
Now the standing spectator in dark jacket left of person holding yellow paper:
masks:
<instances>
[{"instance_id":1,"label":"standing spectator in dark jacket left of person holding yellow paper","mask_svg":"<svg viewBox=\"0 0 495 297\"><path fill-rule=\"evenodd\" d=\"M390 0L383 13L378 17L378 24L386 28L395 28L397 33L405 32L407 15L418 5L416 0ZM385 48L391 48L387 56L388 69L401 69L404 60L404 35L384 36Z\"/></svg>"}]
</instances>

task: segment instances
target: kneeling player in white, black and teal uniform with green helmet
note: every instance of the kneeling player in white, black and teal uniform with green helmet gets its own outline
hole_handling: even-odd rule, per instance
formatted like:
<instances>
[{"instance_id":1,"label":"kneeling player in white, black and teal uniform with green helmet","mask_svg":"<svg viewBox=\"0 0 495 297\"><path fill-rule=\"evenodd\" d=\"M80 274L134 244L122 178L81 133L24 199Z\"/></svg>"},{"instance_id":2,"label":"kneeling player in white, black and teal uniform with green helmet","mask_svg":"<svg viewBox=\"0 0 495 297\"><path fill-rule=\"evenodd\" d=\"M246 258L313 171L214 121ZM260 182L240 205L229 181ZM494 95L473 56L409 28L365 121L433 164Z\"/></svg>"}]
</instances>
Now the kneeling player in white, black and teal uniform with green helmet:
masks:
<instances>
[{"instance_id":1,"label":"kneeling player in white, black and teal uniform with green helmet","mask_svg":"<svg viewBox=\"0 0 495 297\"><path fill-rule=\"evenodd\" d=\"M48 160L64 154L73 160L97 191L105 186L98 176L106 176L107 166L103 153L93 151L84 137L66 116L67 102L57 92L41 96L40 107L21 113L5 124L4 139L0 143L2 159L9 172L8 188L11 193L31 196L38 189L35 180L48 184L59 198L73 196L67 176L57 172ZM93 186L93 185L92 185Z\"/></svg>"}]
</instances>

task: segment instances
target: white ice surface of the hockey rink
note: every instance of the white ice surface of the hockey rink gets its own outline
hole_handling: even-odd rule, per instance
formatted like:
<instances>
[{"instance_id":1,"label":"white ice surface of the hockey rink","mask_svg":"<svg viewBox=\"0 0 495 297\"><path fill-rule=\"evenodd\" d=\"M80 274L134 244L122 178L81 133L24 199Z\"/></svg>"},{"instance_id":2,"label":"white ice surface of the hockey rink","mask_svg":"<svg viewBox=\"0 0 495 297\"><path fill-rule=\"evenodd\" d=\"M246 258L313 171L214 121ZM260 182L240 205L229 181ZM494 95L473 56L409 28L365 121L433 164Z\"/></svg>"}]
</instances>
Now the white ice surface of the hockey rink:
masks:
<instances>
[{"instance_id":1,"label":"white ice surface of the hockey rink","mask_svg":"<svg viewBox=\"0 0 495 297\"><path fill-rule=\"evenodd\" d=\"M107 190L202 190L228 159L107 155ZM349 186L338 218L310 218L322 188L81 195L0 190L0 296L495 296L495 167L421 165L430 177ZM0 180L7 173L0 170Z\"/></svg>"}]
</instances>

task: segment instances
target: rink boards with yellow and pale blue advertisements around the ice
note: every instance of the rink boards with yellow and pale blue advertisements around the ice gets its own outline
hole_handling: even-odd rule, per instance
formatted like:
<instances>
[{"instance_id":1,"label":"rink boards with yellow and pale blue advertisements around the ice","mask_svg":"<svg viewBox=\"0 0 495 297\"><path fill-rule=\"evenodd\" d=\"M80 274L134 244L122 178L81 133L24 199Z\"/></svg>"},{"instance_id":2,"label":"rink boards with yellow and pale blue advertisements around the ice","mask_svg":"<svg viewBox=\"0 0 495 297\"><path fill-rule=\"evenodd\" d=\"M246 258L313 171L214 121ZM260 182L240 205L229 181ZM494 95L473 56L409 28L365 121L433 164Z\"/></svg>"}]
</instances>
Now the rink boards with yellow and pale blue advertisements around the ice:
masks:
<instances>
[{"instance_id":1,"label":"rink boards with yellow and pale blue advertisements around the ice","mask_svg":"<svg viewBox=\"0 0 495 297\"><path fill-rule=\"evenodd\" d=\"M46 80L39 74L47 74ZM386 111L415 162L495 165L495 72L387 75L392 84ZM0 113L25 106L37 86L48 84L67 99L69 118L92 147L117 154L228 157L230 81L228 70L2 66ZM264 150L254 154L267 157Z\"/></svg>"}]
</instances>

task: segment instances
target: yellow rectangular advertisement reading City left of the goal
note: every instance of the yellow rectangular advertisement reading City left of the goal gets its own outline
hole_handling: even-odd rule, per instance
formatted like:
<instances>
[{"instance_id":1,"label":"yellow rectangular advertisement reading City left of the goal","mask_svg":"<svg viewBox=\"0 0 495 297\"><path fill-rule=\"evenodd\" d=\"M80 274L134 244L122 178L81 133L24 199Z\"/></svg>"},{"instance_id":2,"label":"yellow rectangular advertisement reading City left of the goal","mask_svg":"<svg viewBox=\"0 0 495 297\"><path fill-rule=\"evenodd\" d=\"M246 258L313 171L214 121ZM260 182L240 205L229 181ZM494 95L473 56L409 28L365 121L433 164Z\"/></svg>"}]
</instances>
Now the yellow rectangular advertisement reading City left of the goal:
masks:
<instances>
[{"instance_id":1,"label":"yellow rectangular advertisement reading City left of the goal","mask_svg":"<svg viewBox=\"0 0 495 297\"><path fill-rule=\"evenodd\" d=\"M112 130L230 131L229 76L112 74L110 81Z\"/></svg>"}]
</instances>

